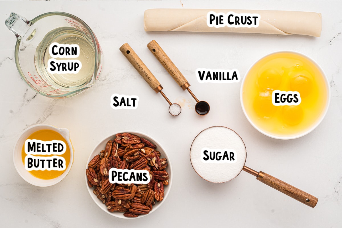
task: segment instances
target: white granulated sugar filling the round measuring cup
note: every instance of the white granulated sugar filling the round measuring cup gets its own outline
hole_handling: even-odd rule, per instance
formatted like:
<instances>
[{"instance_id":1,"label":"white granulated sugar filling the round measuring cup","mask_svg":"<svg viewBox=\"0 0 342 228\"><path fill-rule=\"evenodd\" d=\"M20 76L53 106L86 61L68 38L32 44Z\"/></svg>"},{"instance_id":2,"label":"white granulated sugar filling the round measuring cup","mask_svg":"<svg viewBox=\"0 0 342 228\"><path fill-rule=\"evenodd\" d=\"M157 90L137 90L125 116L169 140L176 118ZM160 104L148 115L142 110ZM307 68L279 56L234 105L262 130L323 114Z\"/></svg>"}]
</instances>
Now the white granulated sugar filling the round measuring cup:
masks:
<instances>
[{"instance_id":1,"label":"white granulated sugar filling the round measuring cup","mask_svg":"<svg viewBox=\"0 0 342 228\"><path fill-rule=\"evenodd\" d=\"M202 148L233 149L235 163L204 163L201 160ZM199 133L190 148L190 161L196 173L213 183L223 183L235 178L246 162L244 141L233 130L223 126L213 126Z\"/></svg>"}]
</instances>

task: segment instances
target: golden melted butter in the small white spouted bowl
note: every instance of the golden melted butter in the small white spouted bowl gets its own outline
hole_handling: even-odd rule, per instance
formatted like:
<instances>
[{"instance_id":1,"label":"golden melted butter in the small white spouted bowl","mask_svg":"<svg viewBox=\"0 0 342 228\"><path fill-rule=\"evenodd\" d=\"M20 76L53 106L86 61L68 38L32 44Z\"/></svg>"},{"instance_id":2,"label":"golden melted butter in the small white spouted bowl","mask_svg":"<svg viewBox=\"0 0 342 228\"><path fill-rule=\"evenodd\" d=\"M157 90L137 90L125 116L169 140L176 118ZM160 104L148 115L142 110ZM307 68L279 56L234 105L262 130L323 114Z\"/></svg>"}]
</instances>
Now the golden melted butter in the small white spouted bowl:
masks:
<instances>
[{"instance_id":1,"label":"golden melted butter in the small white spouted bowl","mask_svg":"<svg viewBox=\"0 0 342 228\"><path fill-rule=\"evenodd\" d=\"M70 163L70 148L68 145L68 142L65 140L65 138L59 134L58 132L55 132L53 130L39 130L34 133L32 133L30 136L27 137L27 139L38 139L42 141L51 141L51 140L61 140L66 144L66 151L62 155L59 155L65 159L65 170L67 170L68 165ZM26 139L25 139L26 140ZM51 157L51 155L39 155L43 157ZM25 145L23 145L22 148L22 160L23 163L25 162ZM25 165L25 164L24 164ZM27 171L30 174L32 174L35 177L38 177L40 179L53 179L56 178L64 173L64 171L57 171L57 170L32 170L32 171Z\"/></svg>"}]
</instances>

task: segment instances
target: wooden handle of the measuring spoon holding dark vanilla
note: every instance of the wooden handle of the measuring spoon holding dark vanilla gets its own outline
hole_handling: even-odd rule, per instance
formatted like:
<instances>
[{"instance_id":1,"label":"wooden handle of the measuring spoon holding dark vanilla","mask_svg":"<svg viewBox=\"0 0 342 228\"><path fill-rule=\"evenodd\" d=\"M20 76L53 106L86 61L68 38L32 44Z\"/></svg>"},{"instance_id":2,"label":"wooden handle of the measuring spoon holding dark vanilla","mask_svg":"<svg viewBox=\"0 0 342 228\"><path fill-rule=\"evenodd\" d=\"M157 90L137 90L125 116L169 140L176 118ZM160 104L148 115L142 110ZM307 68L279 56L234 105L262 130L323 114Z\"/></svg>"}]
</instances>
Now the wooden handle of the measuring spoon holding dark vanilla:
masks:
<instances>
[{"instance_id":1,"label":"wooden handle of the measuring spoon holding dark vanilla","mask_svg":"<svg viewBox=\"0 0 342 228\"><path fill-rule=\"evenodd\" d=\"M154 54L161 65L169 72L172 78L181 86L183 90L186 90L190 84L186 81L181 71L174 65L169 56L161 49L159 44L152 40L147 44L147 48Z\"/></svg>"}]
</instances>

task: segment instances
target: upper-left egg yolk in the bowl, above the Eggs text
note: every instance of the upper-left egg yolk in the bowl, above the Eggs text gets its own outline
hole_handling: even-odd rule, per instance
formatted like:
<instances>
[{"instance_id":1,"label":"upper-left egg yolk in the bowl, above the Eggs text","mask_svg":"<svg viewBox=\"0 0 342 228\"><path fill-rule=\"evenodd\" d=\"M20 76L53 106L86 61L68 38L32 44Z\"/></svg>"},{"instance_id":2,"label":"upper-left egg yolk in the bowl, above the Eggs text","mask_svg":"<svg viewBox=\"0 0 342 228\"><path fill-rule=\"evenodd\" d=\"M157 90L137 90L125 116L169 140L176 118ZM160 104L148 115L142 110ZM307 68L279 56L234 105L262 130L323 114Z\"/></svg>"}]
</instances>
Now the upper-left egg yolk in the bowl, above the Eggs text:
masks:
<instances>
[{"instance_id":1,"label":"upper-left egg yolk in the bowl, above the Eggs text","mask_svg":"<svg viewBox=\"0 0 342 228\"><path fill-rule=\"evenodd\" d=\"M264 90L274 90L281 84L281 76L275 69L267 69L258 77L258 85Z\"/></svg>"}]
</instances>

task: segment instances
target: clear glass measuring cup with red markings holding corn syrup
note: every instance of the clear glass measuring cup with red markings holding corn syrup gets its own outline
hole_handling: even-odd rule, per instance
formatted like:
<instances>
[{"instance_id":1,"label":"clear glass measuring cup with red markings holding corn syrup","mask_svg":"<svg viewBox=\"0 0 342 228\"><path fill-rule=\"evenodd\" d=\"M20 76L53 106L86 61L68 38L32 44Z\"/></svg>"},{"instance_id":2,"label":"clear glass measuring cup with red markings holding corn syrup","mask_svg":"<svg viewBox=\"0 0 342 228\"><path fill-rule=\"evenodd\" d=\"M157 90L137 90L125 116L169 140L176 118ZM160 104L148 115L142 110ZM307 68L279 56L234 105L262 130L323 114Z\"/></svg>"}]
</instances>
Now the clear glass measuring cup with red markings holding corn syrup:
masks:
<instances>
[{"instance_id":1,"label":"clear glass measuring cup with red markings holding corn syrup","mask_svg":"<svg viewBox=\"0 0 342 228\"><path fill-rule=\"evenodd\" d=\"M5 24L17 38L17 69L24 81L37 93L65 98L88 89L96 82L102 69L103 54L95 34L80 18L68 13L50 12L27 21L25 17L11 13ZM78 73L49 71L48 61L52 59L49 47L52 43L79 46L79 56L76 58L55 57L55 62L80 61Z\"/></svg>"}]
</instances>

